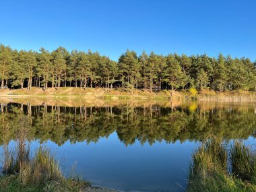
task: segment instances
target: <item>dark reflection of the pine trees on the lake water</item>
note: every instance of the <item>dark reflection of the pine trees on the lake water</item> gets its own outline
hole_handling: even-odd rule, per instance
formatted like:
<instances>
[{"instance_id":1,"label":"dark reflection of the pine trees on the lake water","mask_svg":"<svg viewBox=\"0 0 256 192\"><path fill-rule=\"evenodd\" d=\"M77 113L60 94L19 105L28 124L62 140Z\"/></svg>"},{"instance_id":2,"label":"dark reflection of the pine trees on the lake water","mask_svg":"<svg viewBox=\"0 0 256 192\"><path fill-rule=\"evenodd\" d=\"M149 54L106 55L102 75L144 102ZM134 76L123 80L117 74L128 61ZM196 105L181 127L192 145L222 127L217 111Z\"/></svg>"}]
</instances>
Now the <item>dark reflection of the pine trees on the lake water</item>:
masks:
<instances>
[{"instance_id":1,"label":"dark reflection of the pine trees on the lake water","mask_svg":"<svg viewBox=\"0 0 256 192\"><path fill-rule=\"evenodd\" d=\"M58 145L97 142L115 131L125 145L202 141L209 135L227 140L255 137L253 108L0 106L0 145L15 139L22 122L29 125L28 139L51 140Z\"/></svg>"}]
</instances>

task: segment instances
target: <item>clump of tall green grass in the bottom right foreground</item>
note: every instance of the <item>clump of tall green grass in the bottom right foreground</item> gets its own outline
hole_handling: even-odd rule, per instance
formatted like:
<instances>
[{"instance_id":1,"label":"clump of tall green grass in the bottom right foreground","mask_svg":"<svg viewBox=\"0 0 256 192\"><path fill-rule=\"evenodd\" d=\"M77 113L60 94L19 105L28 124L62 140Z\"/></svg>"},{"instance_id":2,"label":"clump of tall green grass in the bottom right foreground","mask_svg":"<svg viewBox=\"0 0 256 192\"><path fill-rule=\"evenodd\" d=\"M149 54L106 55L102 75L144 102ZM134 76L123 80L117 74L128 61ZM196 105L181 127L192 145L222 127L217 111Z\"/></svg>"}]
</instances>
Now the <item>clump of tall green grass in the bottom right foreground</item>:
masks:
<instances>
[{"instance_id":1,"label":"clump of tall green grass in the bottom right foreground","mask_svg":"<svg viewBox=\"0 0 256 192\"><path fill-rule=\"evenodd\" d=\"M244 143L203 143L193 154L187 191L256 191L256 154Z\"/></svg>"}]
</instances>

